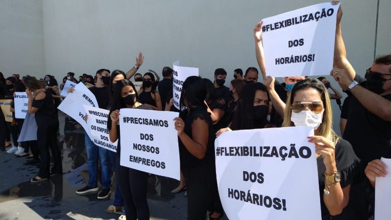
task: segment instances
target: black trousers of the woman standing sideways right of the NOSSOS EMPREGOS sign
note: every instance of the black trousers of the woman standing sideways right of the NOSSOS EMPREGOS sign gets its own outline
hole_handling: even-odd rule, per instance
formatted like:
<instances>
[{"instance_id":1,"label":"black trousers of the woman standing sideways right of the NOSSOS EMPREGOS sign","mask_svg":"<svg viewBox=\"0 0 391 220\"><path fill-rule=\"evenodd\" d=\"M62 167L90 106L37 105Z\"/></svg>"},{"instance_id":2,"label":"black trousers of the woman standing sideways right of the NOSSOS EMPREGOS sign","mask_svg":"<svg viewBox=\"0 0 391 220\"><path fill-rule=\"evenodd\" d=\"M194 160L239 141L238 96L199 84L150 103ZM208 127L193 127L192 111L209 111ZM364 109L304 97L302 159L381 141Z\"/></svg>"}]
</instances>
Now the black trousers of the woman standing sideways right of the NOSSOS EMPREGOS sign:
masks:
<instances>
[{"instance_id":1,"label":"black trousers of the woman standing sideways right of the NOSSOS EMPREGOS sign","mask_svg":"<svg viewBox=\"0 0 391 220\"><path fill-rule=\"evenodd\" d=\"M213 197L213 164L202 161L194 167L181 167L187 187L187 219L204 220Z\"/></svg>"}]
</instances>

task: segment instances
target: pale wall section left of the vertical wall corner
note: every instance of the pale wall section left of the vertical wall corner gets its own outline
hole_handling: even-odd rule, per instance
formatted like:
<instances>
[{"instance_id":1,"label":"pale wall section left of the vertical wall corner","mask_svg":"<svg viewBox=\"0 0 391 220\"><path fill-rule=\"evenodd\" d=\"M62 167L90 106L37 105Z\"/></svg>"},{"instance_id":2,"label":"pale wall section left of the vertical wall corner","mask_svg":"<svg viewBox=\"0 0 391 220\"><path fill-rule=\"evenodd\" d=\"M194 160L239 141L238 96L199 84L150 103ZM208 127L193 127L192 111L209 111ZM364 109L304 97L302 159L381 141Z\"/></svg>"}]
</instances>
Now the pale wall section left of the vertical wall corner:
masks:
<instances>
[{"instance_id":1,"label":"pale wall section left of the vertical wall corner","mask_svg":"<svg viewBox=\"0 0 391 220\"><path fill-rule=\"evenodd\" d=\"M42 0L0 0L0 71L44 75Z\"/></svg>"}]
</instances>

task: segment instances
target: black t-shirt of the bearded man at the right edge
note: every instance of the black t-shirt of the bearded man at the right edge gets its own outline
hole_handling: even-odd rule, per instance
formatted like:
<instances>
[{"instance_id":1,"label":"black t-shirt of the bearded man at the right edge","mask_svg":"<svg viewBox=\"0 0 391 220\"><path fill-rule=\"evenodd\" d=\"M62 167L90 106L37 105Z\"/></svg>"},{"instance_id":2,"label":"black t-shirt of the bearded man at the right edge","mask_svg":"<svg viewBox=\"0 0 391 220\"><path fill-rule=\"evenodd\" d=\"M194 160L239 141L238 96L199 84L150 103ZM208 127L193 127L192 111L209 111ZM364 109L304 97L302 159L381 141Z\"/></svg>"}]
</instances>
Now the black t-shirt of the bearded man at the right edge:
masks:
<instances>
[{"instance_id":1,"label":"black t-shirt of the bearded man at the right edge","mask_svg":"<svg viewBox=\"0 0 391 220\"><path fill-rule=\"evenodd\" d=\"M365 81L362 78L358 80L365 87ZM391 94L383 98L391 101ZM367 110L353 95L348 103L348 122L343 137L353 146L363 164L388 154L391 149L391 122Z\"/></svg>"}]
</instances>

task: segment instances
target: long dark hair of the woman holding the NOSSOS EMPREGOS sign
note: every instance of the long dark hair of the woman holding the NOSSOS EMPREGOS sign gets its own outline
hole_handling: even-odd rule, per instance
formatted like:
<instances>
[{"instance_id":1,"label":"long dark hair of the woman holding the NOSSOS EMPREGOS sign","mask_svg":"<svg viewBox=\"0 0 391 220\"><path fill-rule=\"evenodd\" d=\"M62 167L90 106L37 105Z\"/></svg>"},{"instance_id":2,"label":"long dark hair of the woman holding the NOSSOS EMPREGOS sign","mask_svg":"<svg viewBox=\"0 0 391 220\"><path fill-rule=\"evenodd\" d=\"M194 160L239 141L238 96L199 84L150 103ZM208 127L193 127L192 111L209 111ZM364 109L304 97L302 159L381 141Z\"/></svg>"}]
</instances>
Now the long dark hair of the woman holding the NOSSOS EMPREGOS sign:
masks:
<instances>
[{"instance_id":1,"label":"long dark hair of the woman holding the NOSSOS EMPREGOS sign","mask_svg":"<svg viewBox=\"0 0 391 220\"><path fill-rule=\"evenodd\" d=\"M119 110L119 109L127 108L124 101L122 100L122 97L121 97L122 88L124 88L126 86L131 86L131 88L133 88L134 92L136 93L136 101L138 102L137 90L134 87L133 83L127 79L123 79L123 80L118 81L114 85L112 103L111 103L109 117L108 117L108 121L107 121L107 129L109 129L109 130L111 129L111 118L110 118L111 112L113 112L117 109Z\"/></svg>"}]
</instances>

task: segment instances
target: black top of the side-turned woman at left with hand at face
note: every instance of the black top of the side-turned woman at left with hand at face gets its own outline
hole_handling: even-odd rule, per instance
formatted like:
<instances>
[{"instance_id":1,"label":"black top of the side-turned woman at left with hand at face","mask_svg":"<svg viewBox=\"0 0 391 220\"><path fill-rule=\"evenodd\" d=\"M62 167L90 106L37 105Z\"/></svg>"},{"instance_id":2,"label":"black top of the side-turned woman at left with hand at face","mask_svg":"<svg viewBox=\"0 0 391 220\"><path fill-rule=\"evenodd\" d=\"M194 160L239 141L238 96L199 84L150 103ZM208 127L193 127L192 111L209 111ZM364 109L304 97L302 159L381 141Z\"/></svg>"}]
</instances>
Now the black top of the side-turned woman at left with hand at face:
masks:
<instances>
[{"instance_id":1,"label":"black top of the side-turned woman at left with hand at face","mask_svg":"<svg viewBox=\"0 0 391 220\"><path fill-rule=\"evenodd\" d=\"M41 100L34 99L32 107L39 109L35 112L35 121L38 127L58 124L57 109L54 106L53 96L45 91L45 97Z\"/></svg>"}]
</instances>

